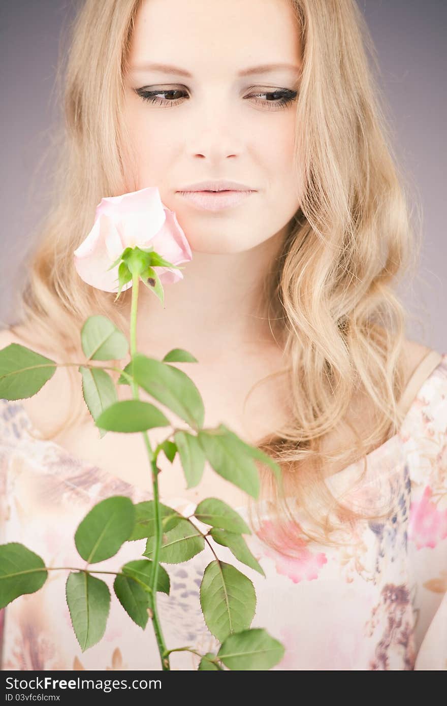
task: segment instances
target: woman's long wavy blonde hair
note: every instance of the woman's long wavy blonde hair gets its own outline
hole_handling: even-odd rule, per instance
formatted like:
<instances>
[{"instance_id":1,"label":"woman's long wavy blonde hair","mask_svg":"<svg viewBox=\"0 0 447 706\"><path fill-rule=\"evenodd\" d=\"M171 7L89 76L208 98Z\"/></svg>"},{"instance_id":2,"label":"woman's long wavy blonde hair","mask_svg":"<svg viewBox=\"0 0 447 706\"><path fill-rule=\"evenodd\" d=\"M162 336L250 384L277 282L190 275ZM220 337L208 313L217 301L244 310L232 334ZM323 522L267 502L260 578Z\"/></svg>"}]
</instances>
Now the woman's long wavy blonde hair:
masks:
<instances>
[{"instance_id":1,"label":"woman's long wavy blonde hair","mask_svg":"<svg viewBox=\"0 0 447 706\"><path fill-rule=\"evenodd\" d=\"M263 304L287 359L292 418L258 443L282 467L284 494L270 467L258 467L270 517L281 527L280 541L274 536L264 541L294 556L304 538L338 546L339 530L393 512L388 507L368 513L340 502L326 486L324 468L328 461L347 464L363 457L366 472L366 454L400 427L407 313L394 287L403 273L414 272L420 237L410 223L404 180L365 51L376 61L374 46L356 2L290 1L303 52L294 136L302 201L265 278ZM64 72L66 125L55 143L54 205L20 295L31 347L42 340L48 349L51 341L58 357L63 351L83 359L80 330L93 313L108 316L129 335L122 309L129 306L131 289L115 303L114 294L86 285L73 267L73 250L90 231L103 196L137 188L126 174L122 149L129 140L120 116L140 5L141 0L87 0L73 23ZM76 368L68 371L78 408L73 405L52 436L90 416L79 394L81 375ZM117 374L113 377L116 381ZM355 395L362 395L363 410L372 410L374 425L366 438L349 418ZM324 451L328 433L343 424L354 432L355 443L345 440L331 453ZM252 510L250 504L254 523Z\"/></svg>"}]
</instances>

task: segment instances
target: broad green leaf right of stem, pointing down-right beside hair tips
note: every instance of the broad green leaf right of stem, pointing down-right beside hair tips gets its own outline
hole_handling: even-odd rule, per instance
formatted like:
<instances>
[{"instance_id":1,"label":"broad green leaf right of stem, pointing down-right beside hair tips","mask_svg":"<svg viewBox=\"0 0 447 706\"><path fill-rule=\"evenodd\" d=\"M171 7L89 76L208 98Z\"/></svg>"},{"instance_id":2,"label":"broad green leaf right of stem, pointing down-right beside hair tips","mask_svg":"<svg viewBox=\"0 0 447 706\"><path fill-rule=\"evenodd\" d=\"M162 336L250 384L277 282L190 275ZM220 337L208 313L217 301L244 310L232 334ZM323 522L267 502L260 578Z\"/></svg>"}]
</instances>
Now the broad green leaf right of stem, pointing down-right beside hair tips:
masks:
<instances>
[{"instance_id":1,"label":"broad green leaf right of stem, pointing down-right beside hair tips","mask_svg":"<svg viewBox=\"0 0 447 706\"><path fill-rule=\"evenodd\" d=\"M216 473L254 498L258 497L258 469L230 434L222 429L201 429L197 438Z\"/></svg>"}]
</instances>

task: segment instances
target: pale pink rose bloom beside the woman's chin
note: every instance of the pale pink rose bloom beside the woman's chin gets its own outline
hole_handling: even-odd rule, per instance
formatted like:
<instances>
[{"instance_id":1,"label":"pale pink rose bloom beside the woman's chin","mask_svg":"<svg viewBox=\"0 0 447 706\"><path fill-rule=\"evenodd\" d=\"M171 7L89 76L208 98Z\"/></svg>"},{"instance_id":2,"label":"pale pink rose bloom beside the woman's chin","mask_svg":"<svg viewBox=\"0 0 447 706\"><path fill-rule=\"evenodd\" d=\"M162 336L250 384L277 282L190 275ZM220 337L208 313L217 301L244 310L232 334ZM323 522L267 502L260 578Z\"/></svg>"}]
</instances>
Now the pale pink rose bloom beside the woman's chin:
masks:
<instances>
[{"instance_id":1,"label":"pale pink rose bloom beside the woman's chin","mask_svg":"<svg viewBox=\"0 0 447 706\"><path fill-rule=\"evenodd\" d=\"M74 251L78 275L88 285L105 292L118 291L118 267L107 270L125 248L152 247L173 265L192 260L191 248L175 213L166 208L157 186L102 198L96 207L90 233ZM162 284L183 279L181 270L155 267ZM127 282L122 291L132 286Z\"/></svg>"}]
</instances>

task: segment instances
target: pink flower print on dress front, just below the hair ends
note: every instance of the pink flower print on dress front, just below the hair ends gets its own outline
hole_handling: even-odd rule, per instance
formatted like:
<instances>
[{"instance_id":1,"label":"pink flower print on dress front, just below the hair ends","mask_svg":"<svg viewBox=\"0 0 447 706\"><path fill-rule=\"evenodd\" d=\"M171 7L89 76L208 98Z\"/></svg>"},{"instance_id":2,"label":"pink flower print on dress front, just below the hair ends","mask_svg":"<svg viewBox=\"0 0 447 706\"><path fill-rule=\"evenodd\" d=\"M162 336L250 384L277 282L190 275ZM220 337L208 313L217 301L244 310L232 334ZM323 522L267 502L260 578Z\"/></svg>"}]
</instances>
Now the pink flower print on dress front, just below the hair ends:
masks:
<instances>
[{"instance_id":1,"label":"pink flower print on dress front, just below the hair ends","mask_svg":"<svg viewBox=\"0 0 447 706\"><path fill-rule=\"evenodd\" d=\"M290 527L294 527L294 525L290 523ZM264 550L264 554L275 561L276 572L287 576L294 583L298 583L303 579L311 581L318 578L318 570L328 562L326 554L323 551L318 554L312 554L307 548L307 542L304 539L295 537L292 541L292 537L287 530L280 528L274 530L273 523L267 520L261 523L261 528L256 534L262 540L268 536L271 537L273 532L275 532L275 540L280 540L280 546L283 546L284 549L293 549L297 553L297 556L294 557L285 556L285 554L280 554L278 551L267 547Z\"/></svg>"}]
</instances>

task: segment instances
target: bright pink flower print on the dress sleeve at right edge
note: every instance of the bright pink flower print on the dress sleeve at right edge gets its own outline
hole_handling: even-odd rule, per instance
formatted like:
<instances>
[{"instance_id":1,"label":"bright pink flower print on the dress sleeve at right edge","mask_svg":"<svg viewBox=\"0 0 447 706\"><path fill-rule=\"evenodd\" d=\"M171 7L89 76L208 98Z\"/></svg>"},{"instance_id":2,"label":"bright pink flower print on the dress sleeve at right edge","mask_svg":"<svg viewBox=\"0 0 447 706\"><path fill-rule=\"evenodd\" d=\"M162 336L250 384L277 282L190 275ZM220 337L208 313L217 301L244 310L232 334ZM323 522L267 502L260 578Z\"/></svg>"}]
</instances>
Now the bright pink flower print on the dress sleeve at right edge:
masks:
<instances>
[{"instance_id":1,"label":"bright pink flower print on the dress sleeve at right edge","mask_svg":"<svg viewBox=\"0 0 447 706\"><path fill-rule=\"evenodd\" d=\"M447 510L438 510L430 502L431 494L431 487L427 486L420 501L410 505L408 537L415 542L417 549L424 546L433 549L447 537Z\"/></svg>"}]
</instances>

